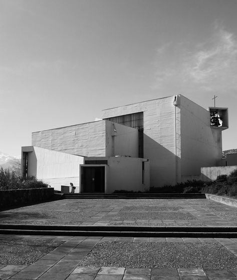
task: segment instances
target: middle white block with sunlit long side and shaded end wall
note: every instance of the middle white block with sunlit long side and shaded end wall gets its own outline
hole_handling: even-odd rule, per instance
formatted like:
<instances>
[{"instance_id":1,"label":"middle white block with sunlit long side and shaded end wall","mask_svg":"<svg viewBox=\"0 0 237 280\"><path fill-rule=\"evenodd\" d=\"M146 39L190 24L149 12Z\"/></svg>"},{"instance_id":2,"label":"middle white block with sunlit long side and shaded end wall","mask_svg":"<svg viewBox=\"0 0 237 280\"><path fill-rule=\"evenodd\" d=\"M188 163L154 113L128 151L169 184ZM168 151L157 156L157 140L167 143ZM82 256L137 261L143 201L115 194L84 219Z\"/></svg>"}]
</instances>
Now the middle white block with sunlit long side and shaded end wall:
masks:
<instances>
[{"instance_id":1,"label":"middle white block with sunlit long side and shaded end wall","mask_svg":"<svg viewBox=\"0 0 237 280\"><path fill-rule=\"evenodd\" d=\"M97 121L32 133L32 145L81 156L138 156L138 130ZM114 142L113 142L114 141Z\"/></svg>"}]
</instances>

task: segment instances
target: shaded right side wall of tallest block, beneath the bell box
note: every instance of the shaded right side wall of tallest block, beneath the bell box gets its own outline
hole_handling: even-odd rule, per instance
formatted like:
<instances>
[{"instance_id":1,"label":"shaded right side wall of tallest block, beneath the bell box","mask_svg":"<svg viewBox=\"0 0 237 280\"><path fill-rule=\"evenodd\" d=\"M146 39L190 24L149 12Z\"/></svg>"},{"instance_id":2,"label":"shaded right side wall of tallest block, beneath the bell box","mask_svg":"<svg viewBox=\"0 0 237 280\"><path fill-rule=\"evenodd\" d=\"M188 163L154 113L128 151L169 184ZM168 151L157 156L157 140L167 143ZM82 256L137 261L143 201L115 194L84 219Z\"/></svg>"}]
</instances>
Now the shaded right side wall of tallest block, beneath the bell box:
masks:
<instances>
[{"instance_id":1,"label":"shaded right side wall of tallest block, beneath the bell box","mask_svg":"<svg viewBox=\"0 0 237 280\"><path fill-rule=\"evenodd\" d=\"M200 167L215 166L222 157L221 131L209 126L209 112L180 96L181 173L200 174Z\"/></svg>"}]
</instances>

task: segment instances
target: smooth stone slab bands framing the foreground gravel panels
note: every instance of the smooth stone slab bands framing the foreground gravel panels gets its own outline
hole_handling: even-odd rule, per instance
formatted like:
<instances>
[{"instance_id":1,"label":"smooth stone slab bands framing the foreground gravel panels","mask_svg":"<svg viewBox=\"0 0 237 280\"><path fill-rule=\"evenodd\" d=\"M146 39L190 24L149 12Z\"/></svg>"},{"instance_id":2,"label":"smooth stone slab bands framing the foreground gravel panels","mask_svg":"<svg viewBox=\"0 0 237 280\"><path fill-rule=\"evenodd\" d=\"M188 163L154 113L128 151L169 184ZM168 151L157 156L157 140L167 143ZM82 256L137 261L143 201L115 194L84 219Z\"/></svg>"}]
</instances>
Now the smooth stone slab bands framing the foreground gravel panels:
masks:
<instances>
[{"instance_id":1,"label":"smooth stone slab bands framing the foreground gravel panels","mask_svg":"<svg viewBox=\"0 0 237 280\"><path fill-rule=\"evenodd\" d=\"M0 235L0 239L1 239ZM5 238L13 238L14 236L4 236ZM28 236L21 236L27 239ZM31 236L31 239L47 239L47 236ZM57 239L57 236L53 238ZM17 240L17 237L16 237ZM80 266L80 261L90 252L91 249L98 242L121 242L118 237L68 237L67 240L57 247L55 250L46 254L40 260L31 265L15 265L0 264L0 279L40 279L40 280L78 280L78 279L141 279L141 280L155 280L155 279L168 279L168 280L237 280L237 269L184 269L184 268L141 268L141 267L85 267ZM112 241L111 241L112 240ZM160 242L160 239L148 238L146 242ZM169 238L163 238L162 242L169 243ZM175 242L175 240L173 240ZM225 238L180 238L178 243L191 242L217 242L231 251L231 248L236 247L237 239ZM137 242L136 238L130 238L126 242ZM84 248L89 248L88 251L82 251ZM60 254L58 254L60 252ZM79 259L67 259L67 256L73 253L79 253ZM82 255L80 255L82 253ZM50 259L47 258L50 256ZM55 256L55 257L54 257ZM60 257L60 258L59 258ZM56 258L54 260L54 258Z\"/></svg>"}]
</instances>

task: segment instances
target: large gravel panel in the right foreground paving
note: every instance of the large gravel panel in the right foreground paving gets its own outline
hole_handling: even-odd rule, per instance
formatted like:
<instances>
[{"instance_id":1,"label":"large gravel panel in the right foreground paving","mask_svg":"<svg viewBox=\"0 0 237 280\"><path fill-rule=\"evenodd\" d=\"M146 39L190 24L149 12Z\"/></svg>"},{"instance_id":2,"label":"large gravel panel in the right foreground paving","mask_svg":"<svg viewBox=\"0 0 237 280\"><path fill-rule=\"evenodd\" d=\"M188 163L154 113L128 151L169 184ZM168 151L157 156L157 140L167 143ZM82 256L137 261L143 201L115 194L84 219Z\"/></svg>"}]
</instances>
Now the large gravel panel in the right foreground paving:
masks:
<instances>
[{"instance_id":1,"label":"large gravel panel in the right foreground paving","mask_svg":"<svg viewBox=\"0 0 237 280\"><path fill-rule=\"evenodd\" d=\"M99 242L81 266L236 269L219 243Z\"/></svg>"}]
</instances>

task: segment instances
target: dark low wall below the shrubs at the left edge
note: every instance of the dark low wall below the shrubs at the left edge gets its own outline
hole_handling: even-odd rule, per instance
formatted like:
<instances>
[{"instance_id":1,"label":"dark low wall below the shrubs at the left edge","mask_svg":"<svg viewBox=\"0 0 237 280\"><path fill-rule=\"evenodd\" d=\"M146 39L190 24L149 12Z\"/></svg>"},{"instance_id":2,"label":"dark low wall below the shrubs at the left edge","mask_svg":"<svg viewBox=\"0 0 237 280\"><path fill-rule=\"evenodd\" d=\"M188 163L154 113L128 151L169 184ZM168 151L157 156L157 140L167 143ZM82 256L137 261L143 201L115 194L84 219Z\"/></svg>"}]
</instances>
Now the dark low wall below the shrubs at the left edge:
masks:
<instances>
[{"instance_id":1,"label":"dark low wall below the shrubs at the left edge","mask_svg":"<svg viewBox=\"0 0 237 280\"><path fill-rule=\"evenodd\" d=\"M0 191L0 209L51 200L54 188Z\"/></svg>"}]
</instances>

